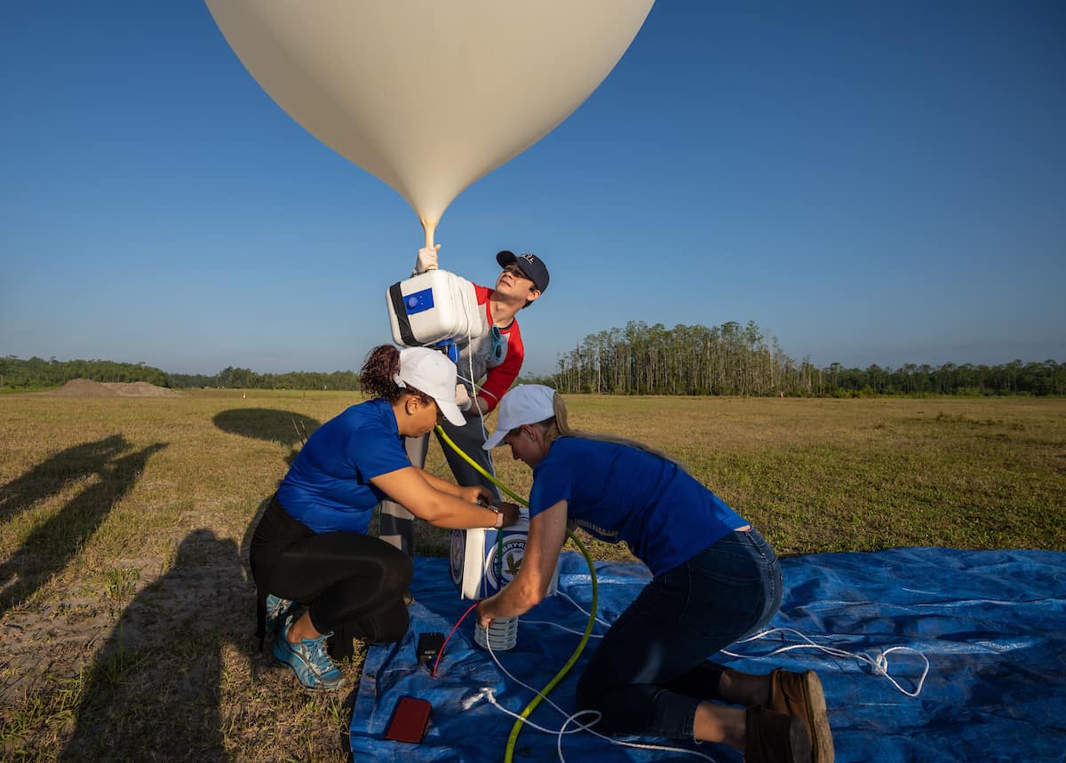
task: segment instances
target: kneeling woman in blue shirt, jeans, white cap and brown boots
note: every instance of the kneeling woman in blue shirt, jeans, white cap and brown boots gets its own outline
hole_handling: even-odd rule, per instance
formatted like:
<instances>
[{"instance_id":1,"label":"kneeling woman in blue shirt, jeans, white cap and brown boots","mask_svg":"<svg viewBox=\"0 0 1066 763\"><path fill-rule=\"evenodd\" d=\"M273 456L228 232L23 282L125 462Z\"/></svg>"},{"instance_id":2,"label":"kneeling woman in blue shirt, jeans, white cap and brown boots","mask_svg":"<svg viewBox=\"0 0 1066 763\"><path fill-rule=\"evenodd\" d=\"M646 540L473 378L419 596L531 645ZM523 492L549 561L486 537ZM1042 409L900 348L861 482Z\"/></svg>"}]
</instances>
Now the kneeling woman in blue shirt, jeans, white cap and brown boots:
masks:
<instances>
[{"instance_id":1,"label":"kneeling woman in blue shirt, jeans, white cap and brown boots","mask_svg":"<svg viewBox=\"0 0 1066 763\"><path fill-rule=\"evenodd\" d=\"M482 628L544 599L568 524L625 541L653 577L579 680L578 707L600 713L596 728L727 744L748 763L833 760L813 671L754 676L707 660L780 606L780 564L746 520L665 454L571 431L548 387L503 396L485 448L501 443L533 469L530 530L514 580L478 605Z\"/></svg>"}]
</instances>

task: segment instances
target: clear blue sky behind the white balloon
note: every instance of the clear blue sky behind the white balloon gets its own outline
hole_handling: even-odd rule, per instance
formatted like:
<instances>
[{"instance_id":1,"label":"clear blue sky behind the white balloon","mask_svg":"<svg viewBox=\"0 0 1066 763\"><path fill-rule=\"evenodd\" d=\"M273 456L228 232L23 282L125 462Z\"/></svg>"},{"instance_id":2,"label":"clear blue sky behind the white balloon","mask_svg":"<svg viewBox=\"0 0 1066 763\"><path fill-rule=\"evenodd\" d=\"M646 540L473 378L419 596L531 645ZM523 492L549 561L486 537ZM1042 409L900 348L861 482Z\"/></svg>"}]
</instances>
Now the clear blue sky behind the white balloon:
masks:
<instances>
[{"instance_id":1,"label":"clear blue sky behind the white balloon","mask_svg":"<svg viewBox=\"0 0 1066 763\"><path fill-rule=\"evenodd\" d=\"M752 320L819 366L1066 360L1064 39L1059 0L659 0L452 204L441 262L544 258L532 373L630 320ZM415 213L205 5L4 3L0 93L0 355L334 371L389 340Z\"/></svg>"}]
</instances>

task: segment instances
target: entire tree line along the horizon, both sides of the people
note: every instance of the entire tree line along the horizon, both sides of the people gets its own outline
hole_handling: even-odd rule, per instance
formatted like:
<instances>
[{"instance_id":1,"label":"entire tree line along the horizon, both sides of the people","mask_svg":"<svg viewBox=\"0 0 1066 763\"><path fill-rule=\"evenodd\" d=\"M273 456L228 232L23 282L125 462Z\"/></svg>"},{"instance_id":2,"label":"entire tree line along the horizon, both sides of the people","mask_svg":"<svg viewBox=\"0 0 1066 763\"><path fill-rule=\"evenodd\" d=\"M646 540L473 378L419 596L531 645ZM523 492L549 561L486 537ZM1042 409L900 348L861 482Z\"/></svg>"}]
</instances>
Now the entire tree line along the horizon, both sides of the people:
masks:
<instances>
[{"instance_id":1,"label":"entire tree line along the horizon, both sides of the people","mask_svg":"<svg viewBox=\"0 0 1066 763\"><path fill-rule=\"evenodd\" d=\"M1064 395L1066 363L1055 360L1000 366L904 363L900 368L814 366L798 362L754 322L666 328L630 321L625 328L589 334L558 357L555 373L524 377L562 392L776 396ZM0 358L0 389L59 387L70 379L148 381L172 389L359 389L352 371L260 374L227 367L216 374L167 373L145 363L112 360Z\"/></svg>"}]
</instances>

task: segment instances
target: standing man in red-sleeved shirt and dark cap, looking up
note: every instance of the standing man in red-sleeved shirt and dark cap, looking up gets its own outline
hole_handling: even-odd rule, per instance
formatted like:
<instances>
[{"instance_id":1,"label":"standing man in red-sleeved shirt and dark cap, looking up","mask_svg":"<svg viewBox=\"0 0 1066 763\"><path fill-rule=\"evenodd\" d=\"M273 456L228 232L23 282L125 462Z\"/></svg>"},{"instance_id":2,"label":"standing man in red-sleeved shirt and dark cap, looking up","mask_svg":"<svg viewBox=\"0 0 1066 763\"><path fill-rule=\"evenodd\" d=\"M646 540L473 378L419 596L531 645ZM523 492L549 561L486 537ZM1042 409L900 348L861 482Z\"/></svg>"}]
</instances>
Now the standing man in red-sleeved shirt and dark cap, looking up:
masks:
<instances>
[{"instance_id":1,"label":"standing man in red-sleeved shirt and dark cap, looking up","mask_svg":"<svg viewBox=\"0 0 1066 763\"><path fill-rule=\"evenodd\" d=\"M418 253L415 273L437 267L437 249L423 248ZM485 310L489 332L471 342L459 354L456 403L466 416L466 424L455 426L447 421L441 424L452 442L475 460L485 471L495 473L488 451L482 449L488 432L483 418L496 407L522 369L526 351L522 335L515 315L532 305L548 288L548 269L533 254L515 255L500 251L496 261L503 269L489 289L474 285L478 305ZM421 467L430 447L429 436L407 438L410 462ZM441 442L445 458L463 487L484 485L500 500L496 486L471 467L447 443ZM403 506L391 501L382 502L382 523L378 537L404 553L415 554L414 516Z\"/></svg>"}]
</instances>

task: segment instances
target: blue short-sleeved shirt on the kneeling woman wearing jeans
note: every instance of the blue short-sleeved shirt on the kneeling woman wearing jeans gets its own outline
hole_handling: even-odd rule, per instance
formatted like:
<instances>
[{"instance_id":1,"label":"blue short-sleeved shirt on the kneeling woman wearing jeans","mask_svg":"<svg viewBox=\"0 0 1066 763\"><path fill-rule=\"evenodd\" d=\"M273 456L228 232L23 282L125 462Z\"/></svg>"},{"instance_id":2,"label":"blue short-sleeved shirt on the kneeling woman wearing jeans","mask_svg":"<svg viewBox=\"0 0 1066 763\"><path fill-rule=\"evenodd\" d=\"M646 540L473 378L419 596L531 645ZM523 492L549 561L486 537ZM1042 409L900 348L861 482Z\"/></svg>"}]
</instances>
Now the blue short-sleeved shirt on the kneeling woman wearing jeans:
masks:
<instances>
[{"instance_id":1,"label":"blue short-sleeved shirt on the kneeling woman wearing jeans","mask_svg":"<svg viewBox=\"0 0 1066 763\"><path fill-rule=\"evenodd\" d=\"M530 516L567 501L567 519L625 541L653 575L747 524L693 476L630 445L561 437L533 470Z\"/></svg>"}]
</instances>

